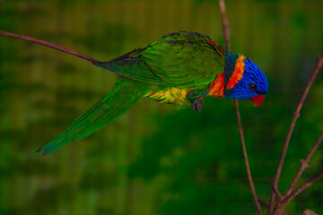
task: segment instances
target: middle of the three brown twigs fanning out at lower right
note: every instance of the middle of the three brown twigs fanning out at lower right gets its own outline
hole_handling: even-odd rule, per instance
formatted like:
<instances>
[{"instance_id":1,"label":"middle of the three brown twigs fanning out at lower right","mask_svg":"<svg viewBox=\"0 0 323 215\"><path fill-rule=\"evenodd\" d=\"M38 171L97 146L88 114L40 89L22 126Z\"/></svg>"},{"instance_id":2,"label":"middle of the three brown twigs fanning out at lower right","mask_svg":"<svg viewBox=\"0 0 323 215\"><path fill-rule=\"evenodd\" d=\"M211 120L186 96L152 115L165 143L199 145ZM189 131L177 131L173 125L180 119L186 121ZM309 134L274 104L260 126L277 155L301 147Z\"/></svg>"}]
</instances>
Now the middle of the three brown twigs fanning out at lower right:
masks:
<instances>
[{"instance_id":1,"label":"middle of the three brown twigs fanning out at lower right","mask_svg":"<svg viewBox=\"0 0 323 215\"><path fill-rule=\"evenodd\" d=\"M314 146L311 148L309 154L306 156L306 159L301 159L301 166L300 168L298 169L297 173L295 174L295 176L292 178L292 183L291 185L288 187L286 193L285 193L285 196L286 197L287 195L289 195L290 193L292 193L292 190L295 188L298 180L300 179L301 177L301 174L305 171L306 168L309 167L309 162L310 162L310 159L311 157L313 156L314 152L316 150L318 150L319 148L319 145L320 143L322 142L323 140L323 132L320 133L319 135L319 138L317 140L317 142L315 142Z\"/></svg>"}]
</instances>

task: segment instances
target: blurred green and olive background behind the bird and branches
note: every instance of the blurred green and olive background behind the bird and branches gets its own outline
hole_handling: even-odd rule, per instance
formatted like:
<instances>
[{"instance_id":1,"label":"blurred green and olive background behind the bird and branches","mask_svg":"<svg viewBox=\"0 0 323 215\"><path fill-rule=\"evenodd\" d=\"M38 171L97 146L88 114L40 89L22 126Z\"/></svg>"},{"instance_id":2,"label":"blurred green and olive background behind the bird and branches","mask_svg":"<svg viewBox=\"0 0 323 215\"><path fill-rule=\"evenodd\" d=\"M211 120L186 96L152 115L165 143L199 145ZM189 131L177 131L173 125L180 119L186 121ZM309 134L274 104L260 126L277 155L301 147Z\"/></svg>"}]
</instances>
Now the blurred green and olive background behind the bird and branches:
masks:
<instances>
[{"instance_id":1,"label":"blurred green and olive background behind the bird and branches","mask_svg":"<svg viewBox=\"0 0 323 215\"><path fill-rule=\"evenodd\" d=\"M226 2L232 52L266 73L260 107L240 101L259 196L270 185L292 113L323 51L323 2ZM217 1L5 1L0 29L100 60L177 30L224 45ZM233 102L192 109L142 99L99 132L46 157L35 150L104 97L117 76L48 47L0 37L0 214L256 214ZM310 90L287 153L284 191L323 129L323 75ZM322 171L322 147L301 179ZM323 213L323 183L287 210Z\"/></svg>"}]
</instances>

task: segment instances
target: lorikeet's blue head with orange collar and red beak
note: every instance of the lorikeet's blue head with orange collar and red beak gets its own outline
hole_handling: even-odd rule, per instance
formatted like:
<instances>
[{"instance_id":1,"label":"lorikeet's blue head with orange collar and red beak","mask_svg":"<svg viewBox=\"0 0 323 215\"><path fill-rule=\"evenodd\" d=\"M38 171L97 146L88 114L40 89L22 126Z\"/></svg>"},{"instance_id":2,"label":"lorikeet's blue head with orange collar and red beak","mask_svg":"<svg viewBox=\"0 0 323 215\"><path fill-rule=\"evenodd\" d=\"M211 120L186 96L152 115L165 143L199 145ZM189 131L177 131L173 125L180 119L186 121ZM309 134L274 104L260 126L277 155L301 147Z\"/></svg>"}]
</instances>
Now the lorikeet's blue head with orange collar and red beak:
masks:
<instances>
[{"instance_id":1,"label":"lorikeet's blue head with orange collar and red beak","mask_svg":"<svg viewBox=\"0 0 323 215\"><path fill-rule=\"evenodd\" d=\"M225 56L224 97L250 99L260 105L268 90L265 74L249 58L230 52Z\"/></svg>"}]
</instances>

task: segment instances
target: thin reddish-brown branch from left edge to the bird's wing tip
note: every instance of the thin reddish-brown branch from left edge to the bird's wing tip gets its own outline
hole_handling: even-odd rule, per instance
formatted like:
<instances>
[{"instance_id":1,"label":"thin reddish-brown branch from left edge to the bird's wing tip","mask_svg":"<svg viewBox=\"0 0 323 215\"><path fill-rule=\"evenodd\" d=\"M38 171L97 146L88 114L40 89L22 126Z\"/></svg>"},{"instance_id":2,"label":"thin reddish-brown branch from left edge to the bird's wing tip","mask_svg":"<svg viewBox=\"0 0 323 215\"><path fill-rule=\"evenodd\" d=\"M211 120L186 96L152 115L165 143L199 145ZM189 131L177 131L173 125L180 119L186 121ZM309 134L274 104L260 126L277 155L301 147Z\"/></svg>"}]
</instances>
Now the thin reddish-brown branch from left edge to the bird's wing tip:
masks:
<instances>
[{"instance_id":1,"label":"thin reddish-brown branch from left edge to the bird's wing tip","mask_svg":"<svg viewBox=\"0 0 323 215\"><path fill-rule=\"evenodd\" d=\"M14 33L6 32L4 30L0 30L0 35L5 36L5 37L14 38L14 39L22 39L22 40L30 41L30 42L33 42L33 43L38 43L41 46L51 47L51 48L57 49L58 51L65 52L65 53L67 53L69 55L80 57L80 58L82 58L84 60L87 60L87 61L90 61L92 63L100 62L99 60L94 59L91 56L85 56L82 53L76 52L76 51L74 51L72 49L69 49L67 47L62 47L62 46L59 46L59 45L57 45L55 43L51 43L51 42L48 42L48 41L45 41L45 40L35 39L35 38L32 38L32 37L25 36L25 35L20 35L20 34L14 34Z\"/></svg>"}]
</instances>

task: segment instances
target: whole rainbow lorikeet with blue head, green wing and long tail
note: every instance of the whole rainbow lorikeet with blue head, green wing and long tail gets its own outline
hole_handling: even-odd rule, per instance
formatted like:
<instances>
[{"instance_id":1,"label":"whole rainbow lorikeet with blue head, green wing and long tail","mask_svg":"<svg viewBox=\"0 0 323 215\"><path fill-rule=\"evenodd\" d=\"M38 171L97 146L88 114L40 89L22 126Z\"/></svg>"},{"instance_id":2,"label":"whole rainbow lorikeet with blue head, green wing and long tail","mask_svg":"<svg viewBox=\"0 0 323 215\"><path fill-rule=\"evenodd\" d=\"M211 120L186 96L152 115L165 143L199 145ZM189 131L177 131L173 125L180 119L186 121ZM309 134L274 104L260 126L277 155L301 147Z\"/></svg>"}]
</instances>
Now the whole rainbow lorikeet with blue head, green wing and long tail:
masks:
<instances>
[{"instance_id":1,"label":"whole rainbow lorikeet with blue head, green wing and long tail","mask_svg":"<svg viewBox=\"0 0 323 215\"><path fill-rule=\"evenodd\" d=\"M170 33L124 56L93 64L118 73L118 82L105 98L38 150L44 155L111 123L142 97L188 105L199 112L205 96L250 99L258 106L268 90L265 74L249 58L190 31Z\"/></svg>"}]
</instances>

